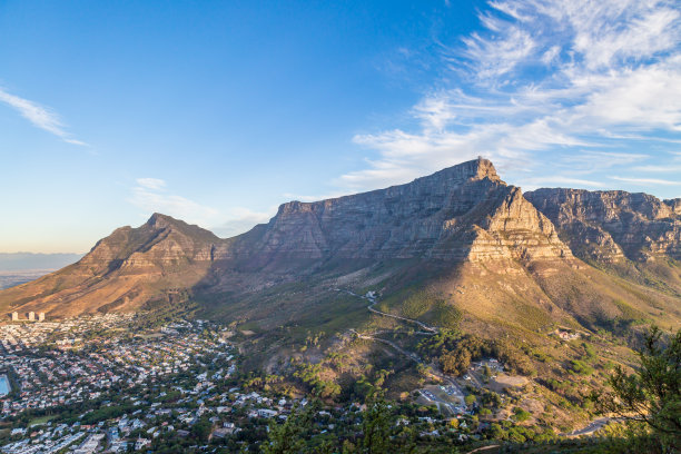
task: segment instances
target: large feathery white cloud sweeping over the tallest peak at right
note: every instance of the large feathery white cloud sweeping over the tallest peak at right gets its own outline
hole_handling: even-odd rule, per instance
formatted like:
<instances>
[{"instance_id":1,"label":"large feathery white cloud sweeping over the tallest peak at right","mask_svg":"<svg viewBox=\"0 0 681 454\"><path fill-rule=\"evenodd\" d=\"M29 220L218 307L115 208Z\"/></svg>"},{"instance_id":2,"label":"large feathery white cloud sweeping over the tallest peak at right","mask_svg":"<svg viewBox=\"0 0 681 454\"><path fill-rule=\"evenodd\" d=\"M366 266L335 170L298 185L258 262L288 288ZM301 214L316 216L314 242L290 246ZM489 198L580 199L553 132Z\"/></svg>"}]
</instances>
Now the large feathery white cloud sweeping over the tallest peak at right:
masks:
<instances>
[{"instance_id":1,"label":"large feathery white cloud sweeping over the tallest peak at right","mask_svg":"<svg viewBox=\"0 0 681 454\"><path fill-rule=\"evenodd\" d=\"M529 174L542 161L564 184L606 186L585 176L651 158L632 140L663 149L681 138L680 9L667 0L490 1L482 30L445 47L447 82L414 106L413 126L355 136L373 156L339 185L404 182L482 155L523 186L537 182Z\"/></svg>"}]
</instances>

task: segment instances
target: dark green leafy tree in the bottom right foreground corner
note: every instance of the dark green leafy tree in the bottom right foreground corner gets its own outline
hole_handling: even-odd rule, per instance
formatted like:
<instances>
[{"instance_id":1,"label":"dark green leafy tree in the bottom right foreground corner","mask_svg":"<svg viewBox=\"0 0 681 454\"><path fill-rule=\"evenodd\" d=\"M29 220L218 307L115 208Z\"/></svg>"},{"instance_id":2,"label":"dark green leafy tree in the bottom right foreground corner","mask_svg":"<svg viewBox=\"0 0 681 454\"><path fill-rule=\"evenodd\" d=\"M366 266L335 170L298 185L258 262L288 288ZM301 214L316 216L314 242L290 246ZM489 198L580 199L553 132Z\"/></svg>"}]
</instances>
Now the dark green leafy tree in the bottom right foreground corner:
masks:
<instances>
[{"instance_id":1,"label":"dark green leafy tree in the bottom right foreground corner","mask_svg":"<svg viewBox=\"0 0 681 454\"><path fill-rule=\"evenodd\" d=\"M640 366L626 374L616 366L608 383L612 391L593 395L602 413L643 423L662 451L681 447L681 329L664 342L653 326L639 352Z\"/></svg>"}]
</instances>

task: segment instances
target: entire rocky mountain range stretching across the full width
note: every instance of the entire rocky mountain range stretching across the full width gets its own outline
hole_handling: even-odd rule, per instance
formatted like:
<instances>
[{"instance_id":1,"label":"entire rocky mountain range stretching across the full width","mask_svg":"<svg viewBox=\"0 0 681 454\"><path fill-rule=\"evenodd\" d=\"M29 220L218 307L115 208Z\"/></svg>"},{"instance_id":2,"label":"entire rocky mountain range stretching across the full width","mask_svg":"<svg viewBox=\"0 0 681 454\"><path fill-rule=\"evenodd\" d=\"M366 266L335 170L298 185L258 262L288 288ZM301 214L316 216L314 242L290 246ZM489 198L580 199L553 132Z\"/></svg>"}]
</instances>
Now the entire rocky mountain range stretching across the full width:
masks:
<instances>
[{"instance_id":1,"label":"entire rocky mountain range stretching across the full width","mask_svg":"<svg viewBox=\"0 0 681 454\"><path fill-rule=\"evenodd\" d=\"M678 327L679 260L681 199L523 194L481 158L407 185L287 203L268 224L227 239L155 214L78 263L0 292L0 309L70 316L186 303L256 332L336 329L359 317L338 298L352 288L377 290L385 312L444 327L456 313L460 326L486 334L634 320Z\"/></svg>"}]
</instances>

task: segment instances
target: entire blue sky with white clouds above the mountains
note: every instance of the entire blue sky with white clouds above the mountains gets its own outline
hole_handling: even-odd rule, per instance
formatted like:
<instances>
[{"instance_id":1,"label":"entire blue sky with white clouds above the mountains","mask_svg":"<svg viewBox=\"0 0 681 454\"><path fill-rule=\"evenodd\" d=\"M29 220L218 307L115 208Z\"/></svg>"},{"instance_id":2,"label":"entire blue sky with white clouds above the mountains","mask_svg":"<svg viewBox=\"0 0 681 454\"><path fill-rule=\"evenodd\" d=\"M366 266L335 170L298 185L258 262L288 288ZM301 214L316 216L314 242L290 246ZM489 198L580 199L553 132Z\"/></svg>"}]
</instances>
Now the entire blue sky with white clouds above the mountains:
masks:
<instances>
[{"instance_id":1,"label":"entire blue sky with white clouds above the mountains","mask_svg":"<svg viewBox=\"0 0 681 454\"><path fill-rule=\"evenodd\" d=\"M681 197L675 1L328 3L0 2L0 251L152 211L230 236L478 155Z\"/></svg>"}]
</instances>

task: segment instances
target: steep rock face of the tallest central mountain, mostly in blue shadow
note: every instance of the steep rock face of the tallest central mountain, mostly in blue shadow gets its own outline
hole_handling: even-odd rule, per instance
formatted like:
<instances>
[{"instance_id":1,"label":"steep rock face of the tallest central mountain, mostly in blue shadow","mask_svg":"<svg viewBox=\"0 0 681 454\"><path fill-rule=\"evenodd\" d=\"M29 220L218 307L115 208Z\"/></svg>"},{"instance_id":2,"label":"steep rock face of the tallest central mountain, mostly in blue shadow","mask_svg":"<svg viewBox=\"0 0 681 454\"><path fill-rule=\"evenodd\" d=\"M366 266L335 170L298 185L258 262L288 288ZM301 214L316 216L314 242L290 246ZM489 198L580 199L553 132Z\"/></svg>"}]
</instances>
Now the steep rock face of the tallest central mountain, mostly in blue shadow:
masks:
<instances>
[{"instance_id":1,"label":"steep rock face of the tallest central mountain, mostly in blue shadow","mask_svg":"<svg viewBox=\"0 0 681 454\"><path fill-rule=\"evenodd\" d=\"M476 159L407 185L279 207L234 246L266 265L292 259L562 258L551 223Z\"/></svg>"}]
</instances>

